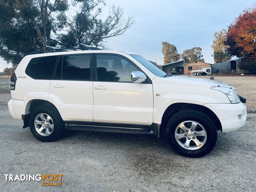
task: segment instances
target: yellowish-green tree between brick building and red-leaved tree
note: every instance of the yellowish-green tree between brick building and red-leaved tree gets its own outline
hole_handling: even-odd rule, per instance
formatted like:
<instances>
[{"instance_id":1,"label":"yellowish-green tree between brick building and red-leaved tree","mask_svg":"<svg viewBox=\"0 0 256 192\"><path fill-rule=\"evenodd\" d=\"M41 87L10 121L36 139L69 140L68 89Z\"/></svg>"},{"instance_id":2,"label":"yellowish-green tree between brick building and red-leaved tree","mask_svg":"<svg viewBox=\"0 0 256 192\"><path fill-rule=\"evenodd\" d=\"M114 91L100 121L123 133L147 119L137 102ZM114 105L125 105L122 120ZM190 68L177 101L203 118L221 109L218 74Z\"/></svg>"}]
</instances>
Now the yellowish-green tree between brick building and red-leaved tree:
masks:
<instances>
[{"instance_id":1,"label":"yellowish-green tree between brick building and red-leaved tree","mask_svg":"<svg viewBox=\"0 0 256 192\"><path fill-rule=\"evenodd\" d=\"M220 32L214 33L214 41L212 44L212 50L215 63L226 62L231 59L232 55L228 52L230 46L225 45L224 42L227 39L227 30L222 29Z\"/></svg>"}]
</instances>

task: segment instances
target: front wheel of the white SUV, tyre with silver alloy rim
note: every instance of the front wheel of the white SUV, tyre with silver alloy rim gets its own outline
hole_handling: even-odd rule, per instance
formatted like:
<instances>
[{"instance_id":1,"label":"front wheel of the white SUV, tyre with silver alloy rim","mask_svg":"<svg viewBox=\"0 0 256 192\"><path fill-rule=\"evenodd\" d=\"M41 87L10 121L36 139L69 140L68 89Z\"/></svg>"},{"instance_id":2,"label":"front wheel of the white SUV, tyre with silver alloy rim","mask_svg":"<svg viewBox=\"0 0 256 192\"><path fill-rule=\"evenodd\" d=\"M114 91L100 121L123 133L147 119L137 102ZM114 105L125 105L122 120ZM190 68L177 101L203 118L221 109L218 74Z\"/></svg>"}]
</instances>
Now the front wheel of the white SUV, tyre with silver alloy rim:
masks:
<instances>
[{"instance_id":1,"label":"front wheel of the white SUV, tyre with silver alloy rim","mask_svg":"<svg viewBox=\"0 0 256 192\"><path fill-rule=\"evenodd\" d=\"M182 110L166 126L170 146L186 157L201 157L212 151L217 142L214 122L198 110Z\"/></svg>"}]
</instances>

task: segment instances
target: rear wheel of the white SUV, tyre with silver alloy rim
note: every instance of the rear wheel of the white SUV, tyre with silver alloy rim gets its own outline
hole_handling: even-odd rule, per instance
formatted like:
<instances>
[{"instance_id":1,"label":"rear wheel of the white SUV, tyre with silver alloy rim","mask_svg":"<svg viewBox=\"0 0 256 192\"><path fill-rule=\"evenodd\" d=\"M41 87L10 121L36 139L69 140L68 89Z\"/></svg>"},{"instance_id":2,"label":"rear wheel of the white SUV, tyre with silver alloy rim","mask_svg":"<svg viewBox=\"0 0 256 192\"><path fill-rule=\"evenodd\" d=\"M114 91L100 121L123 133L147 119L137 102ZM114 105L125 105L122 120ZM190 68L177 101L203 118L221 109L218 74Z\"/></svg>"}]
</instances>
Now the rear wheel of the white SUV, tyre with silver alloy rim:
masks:
<instances>
[{"instance_id":1,"label":"rear wheel of the white SUV, tyre with silver alloy rim","mask_svg":"<svg viewBox=\"0 0 256 192\"><path fill-rule=\"evenodd\" d=\"M64 132L64 122L59 112L52 106L36 107L29 118L30 131L42 142L52 142Z\"/></svg>"}]
</instances>

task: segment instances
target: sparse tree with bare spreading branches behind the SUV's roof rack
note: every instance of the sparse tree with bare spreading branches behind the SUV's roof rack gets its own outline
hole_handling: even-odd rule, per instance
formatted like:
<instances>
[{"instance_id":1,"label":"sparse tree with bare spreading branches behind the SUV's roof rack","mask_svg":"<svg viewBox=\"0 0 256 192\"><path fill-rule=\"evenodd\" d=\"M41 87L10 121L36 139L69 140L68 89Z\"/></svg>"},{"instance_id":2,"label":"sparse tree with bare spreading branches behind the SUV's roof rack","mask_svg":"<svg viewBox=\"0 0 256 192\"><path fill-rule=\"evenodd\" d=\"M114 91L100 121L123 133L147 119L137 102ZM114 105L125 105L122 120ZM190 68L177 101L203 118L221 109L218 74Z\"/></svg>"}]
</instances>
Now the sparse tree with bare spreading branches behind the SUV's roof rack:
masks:
<instances>
[{"instance_id":1,"label":"sparse tree with bare spreading branches behind the SUV's roof rack","mask_svg":"<svg viewBox=\"0 0 256 192\"><path fill-rule=\"evenodd\" d=\"M103 0L80 0L74 4L76 13L68 20L68 33L60 34L57 38L62 46L82 44L103 46L107 38L122 35L134 24L134 18L124 18L124 10L115 7L110 8L110 14L102 20Z\"/></svg>"}]
</instances>

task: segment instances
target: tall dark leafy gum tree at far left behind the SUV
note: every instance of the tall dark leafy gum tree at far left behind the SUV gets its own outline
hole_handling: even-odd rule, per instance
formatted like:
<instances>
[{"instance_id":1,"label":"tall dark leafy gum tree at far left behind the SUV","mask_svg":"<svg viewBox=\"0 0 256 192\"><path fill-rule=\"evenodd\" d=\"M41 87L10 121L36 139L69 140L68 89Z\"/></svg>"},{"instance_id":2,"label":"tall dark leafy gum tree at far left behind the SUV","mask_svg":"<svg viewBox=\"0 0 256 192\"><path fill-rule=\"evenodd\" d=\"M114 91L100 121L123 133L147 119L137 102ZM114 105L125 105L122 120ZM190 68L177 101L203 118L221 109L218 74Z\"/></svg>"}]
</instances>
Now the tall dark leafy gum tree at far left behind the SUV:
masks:
<instances>
[{"instance_id":1,"label":"tall dark leafy gum tree at far left behind the SUV","mask_svg":"<svg viewBox=\"0 0 256 192\"><path fill-rule=\"evenodd\" d=\"M0 0L0 56L17 65L33 50L51 44L66 24L67 0Z\"/></svg>"}]
</instances>

